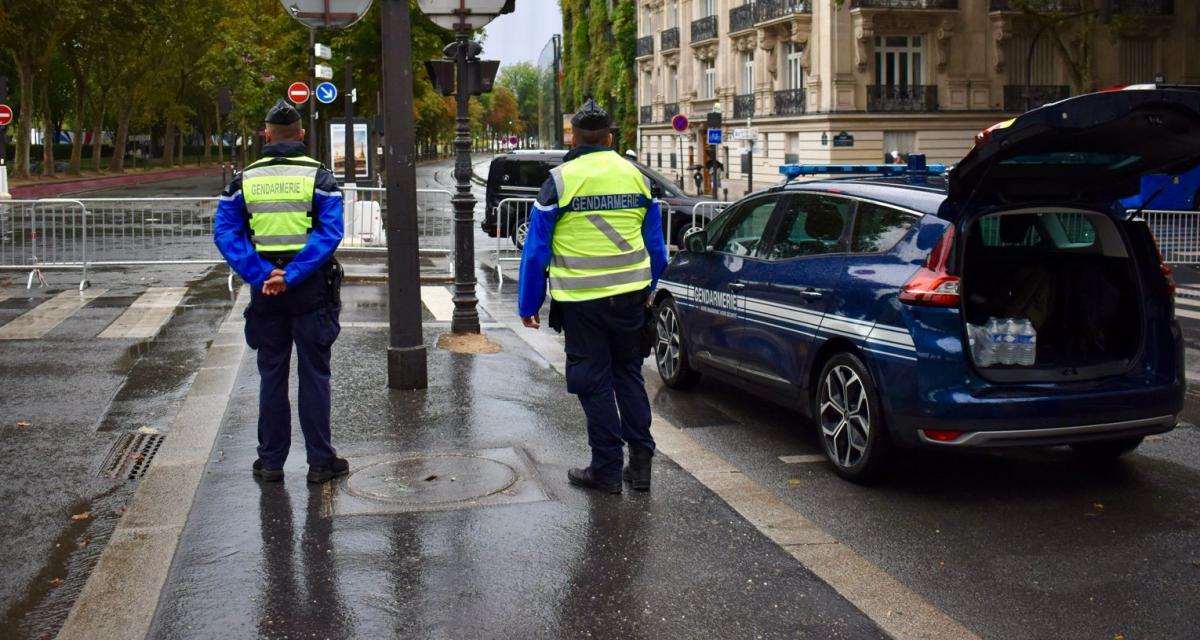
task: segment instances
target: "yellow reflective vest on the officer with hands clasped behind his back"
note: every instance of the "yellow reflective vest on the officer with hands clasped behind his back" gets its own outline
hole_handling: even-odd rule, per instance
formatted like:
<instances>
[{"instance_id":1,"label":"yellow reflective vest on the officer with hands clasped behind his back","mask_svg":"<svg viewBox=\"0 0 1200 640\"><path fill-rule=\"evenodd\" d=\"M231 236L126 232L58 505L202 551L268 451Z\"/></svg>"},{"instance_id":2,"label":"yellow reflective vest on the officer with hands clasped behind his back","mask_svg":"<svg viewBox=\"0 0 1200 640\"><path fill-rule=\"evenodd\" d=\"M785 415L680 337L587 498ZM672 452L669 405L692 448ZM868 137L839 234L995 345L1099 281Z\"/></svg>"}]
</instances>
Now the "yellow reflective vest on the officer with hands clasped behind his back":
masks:
<instances>
[{"instance_id":1,"label":"yellow reflective vest on the officer with hands clasped behind his back","mask_svg":"<svg viewBox=\"0 0 1200 640\"><path fill-rule=\"evenodd\" d=\"M251 241L259 253L295 253L308 243L319 168L305 156L264 157L242 172Z\"/></svg>"}]
</instances>

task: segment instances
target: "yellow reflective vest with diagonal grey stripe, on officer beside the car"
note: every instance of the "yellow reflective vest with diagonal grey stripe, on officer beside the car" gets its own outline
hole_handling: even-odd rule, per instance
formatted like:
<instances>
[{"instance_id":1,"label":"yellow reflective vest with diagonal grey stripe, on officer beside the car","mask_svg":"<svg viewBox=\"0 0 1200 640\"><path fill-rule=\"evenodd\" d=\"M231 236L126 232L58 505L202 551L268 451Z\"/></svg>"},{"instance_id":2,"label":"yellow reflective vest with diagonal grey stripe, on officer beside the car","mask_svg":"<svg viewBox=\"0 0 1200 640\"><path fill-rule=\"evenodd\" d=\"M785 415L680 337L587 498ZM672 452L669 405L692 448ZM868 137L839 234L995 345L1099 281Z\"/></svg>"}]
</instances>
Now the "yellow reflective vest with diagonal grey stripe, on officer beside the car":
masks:
<instances>
[{"instance_id":1,"label":"yellow reflective vest with diagonal grey stripe, on officer beside the car","mask_svg":"<svg viewBox=\"0 0 1200 640\"><path fill-rule=\"evenodd\" d=\"M642 221L652 201L642 172L616 151L595 151L551 175L560 213L551 243L551 298L577 303L649 287Z\"/></svg>"}]
</instances>

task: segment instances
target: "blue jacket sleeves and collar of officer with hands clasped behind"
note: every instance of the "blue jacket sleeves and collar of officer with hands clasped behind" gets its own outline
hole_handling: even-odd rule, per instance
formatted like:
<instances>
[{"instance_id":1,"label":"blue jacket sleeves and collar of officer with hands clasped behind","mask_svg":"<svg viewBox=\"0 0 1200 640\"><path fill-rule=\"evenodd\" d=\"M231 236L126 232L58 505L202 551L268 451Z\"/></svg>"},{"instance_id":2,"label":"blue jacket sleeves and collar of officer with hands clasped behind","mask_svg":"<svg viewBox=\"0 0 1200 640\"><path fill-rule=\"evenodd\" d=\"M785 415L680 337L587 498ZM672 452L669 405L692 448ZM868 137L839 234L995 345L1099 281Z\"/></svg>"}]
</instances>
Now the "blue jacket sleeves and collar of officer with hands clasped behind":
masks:
<instances>
[{"instance_id":1,"label":"blue jacket sleeves and collar of officer with hands clasped behind","mask_svg":"<svg viewBox=\"0 0 1200 640\"><path fill-rule=\"evenodd\" d=\"M301 142L281 142L263 146L263 156L296 157L305 155ZM313 221L308 233L308 244L301 249L283 269L283 280L288 287L294 287L320 269L342 241L344 223L342 222L342 192L337 180L329 169L317 171L317 184L312 195ZM216 220L212 222L212 240L224 256L229 267L246 283L262 288L276 268L254 251L250 241L250 214L241 195L241 175L233 179L221 193Z\"/></svg>"}]
</instances>

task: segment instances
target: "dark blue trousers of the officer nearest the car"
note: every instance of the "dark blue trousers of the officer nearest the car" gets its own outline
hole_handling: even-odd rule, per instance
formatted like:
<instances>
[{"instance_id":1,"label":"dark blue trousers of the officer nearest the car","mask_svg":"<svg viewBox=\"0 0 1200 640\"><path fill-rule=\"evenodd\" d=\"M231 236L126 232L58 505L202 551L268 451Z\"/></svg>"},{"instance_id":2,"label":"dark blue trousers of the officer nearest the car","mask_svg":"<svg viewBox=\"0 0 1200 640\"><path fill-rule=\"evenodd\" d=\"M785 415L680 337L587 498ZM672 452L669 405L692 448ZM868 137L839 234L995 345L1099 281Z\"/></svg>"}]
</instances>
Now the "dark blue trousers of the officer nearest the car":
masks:
<instances>
[{"instance_id":1,"label":"dark blue trousers of the officer nearest the car","mask_svg":"<svg viewBox=\"0 0 1200 640\"><path fill-rule=\"evenodd\" d=\"M646 292L559 303L566 333L566 390L588 419L592 468L620 477L624 444L654 450L650 400L642 378L641 330Z\"/></svg>"}]
</instances>

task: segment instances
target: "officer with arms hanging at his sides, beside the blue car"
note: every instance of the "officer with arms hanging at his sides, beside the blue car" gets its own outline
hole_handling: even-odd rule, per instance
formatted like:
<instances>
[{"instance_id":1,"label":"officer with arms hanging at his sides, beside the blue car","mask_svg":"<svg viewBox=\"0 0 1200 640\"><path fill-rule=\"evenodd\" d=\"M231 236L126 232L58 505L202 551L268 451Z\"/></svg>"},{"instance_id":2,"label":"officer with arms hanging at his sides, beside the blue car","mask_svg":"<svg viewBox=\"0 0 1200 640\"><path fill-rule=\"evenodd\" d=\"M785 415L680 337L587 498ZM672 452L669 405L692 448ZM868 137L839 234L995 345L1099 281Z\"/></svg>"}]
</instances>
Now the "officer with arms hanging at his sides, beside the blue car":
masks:
<instances>
[{"instance_id":1,"label":"officer with arms hanging at his sides, beside the blue car","mask_svg":"<svg viewBox=\"0 0 1200 640\"><path fill-rule=\"evenodd\" d=\"M566 389L588 421L592 463L571 484L650 489L650 401L642 379L646 305L666 269L659 205L638 168L610 149L612 120L589 100L571 119L574 149L538 195L521 256L518 312L538 329L550 280L550 325L566 331Z\"/></svg>"}]
</instances>

